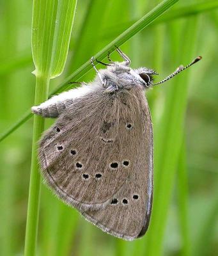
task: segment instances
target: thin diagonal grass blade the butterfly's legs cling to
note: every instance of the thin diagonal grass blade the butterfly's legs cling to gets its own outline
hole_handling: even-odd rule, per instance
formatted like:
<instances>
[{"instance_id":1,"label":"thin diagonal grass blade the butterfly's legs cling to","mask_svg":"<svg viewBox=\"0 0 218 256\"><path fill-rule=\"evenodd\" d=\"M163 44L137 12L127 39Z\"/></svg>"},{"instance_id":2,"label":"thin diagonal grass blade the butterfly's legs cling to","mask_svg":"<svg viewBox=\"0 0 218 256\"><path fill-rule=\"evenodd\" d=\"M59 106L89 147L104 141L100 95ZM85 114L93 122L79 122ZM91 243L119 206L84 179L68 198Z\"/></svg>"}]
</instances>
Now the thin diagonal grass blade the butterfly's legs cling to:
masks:
<instances>
[{"instance_id":1,"label":"thin diagonal grass blade the butterfly's legs cling to","mask_svg":"<svg viewBox=\"0 0 218 256\"><path fill-rule=\"evenodd\" d=\"M114 39L113 42L111 42L111 44L108 44L104 49L102 49L102 51L98 52L94 56L95 60L96 59L103 60L107 56L108 52L113 52L116 49L114 45L120 46L125 42L127 42L127 40L132 38L132 36L136 35L136 33L141 31L142 29L146 28L146 26L148 26L150 23L153 22L153 20L157 19L160 15L162 15L162 13L166 12L166 10L171 8L171 6L173 6L173 4L175 4L176 2L178 2L178 0L162 1L162 3L156 6L151 12L144 15L134 25L128 28L125 32L121 33L121 35L118 36L116 39ZM69 82L79 80L82 76L84 76L84 74L86 74L89 70L91 70L91 68L92 66L90 61L87 61L86 63L84 63L84 65L78 68L73 74L66 77L66 79L61 84L59 84L58 88L52 91L50 96L59 92L63 92L67 88L71 88L72 85L69 85ZM24 123L23 119L21 119L19 124L17 123L16 129L23 123ZM10 128L8 129L8 131L4 132L4 138L10 135L13 131L15 131L15 129ZM3 140L3 136L0 137L0 141L2 140Z\"/></svg>"}]
</instances>

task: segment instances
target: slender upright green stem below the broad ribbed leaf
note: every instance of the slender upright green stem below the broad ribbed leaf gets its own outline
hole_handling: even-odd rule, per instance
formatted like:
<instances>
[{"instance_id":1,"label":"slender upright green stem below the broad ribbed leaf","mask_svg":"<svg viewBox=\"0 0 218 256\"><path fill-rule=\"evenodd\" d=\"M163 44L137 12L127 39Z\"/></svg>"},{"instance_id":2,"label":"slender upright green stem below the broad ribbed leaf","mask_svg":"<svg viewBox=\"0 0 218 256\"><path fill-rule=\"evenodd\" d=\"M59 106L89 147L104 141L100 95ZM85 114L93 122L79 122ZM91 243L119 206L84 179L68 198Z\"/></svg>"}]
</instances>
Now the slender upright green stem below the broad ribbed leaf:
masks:
<instances>
[{"instance_id":1,"label":"slender upright green stem below the broad ribbed leaf","mask_svg":"<svg viewBox=\"0 0 218 256\"><path fill-rule=\"evenodd\" d=\"M36 76L35 105L43 102L48 97L49 77ZM37 160L37 142L43 132L44 118L34 116L33 120L33 144L31 156L31 173L29 184L29 199L27 208L26 238L25 238L25 256L36 254L36 239L38 230L38 216L40 205L41 177Z\"/></svg>"}]
</instances>

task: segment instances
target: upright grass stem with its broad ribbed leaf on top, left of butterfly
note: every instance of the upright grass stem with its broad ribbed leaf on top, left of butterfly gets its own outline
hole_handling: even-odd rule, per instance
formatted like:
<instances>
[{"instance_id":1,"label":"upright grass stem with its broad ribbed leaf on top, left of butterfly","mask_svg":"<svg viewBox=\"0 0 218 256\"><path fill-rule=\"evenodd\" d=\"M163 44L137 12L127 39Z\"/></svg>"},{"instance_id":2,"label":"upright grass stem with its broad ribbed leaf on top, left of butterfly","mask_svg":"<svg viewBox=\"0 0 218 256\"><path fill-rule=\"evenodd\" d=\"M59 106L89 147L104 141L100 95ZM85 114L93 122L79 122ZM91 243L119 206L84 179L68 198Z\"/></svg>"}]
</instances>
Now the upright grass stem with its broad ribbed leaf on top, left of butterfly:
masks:
<instances>
[{"instance_id":1,"label":"upright grass stem with its broad ribbed leaf on top, left of butterfly","mask_svg":"<svg viewBox=\"0 0 218 256\"><path fill-rule=\"evenodd\" d=\"M76 1L74 0L35 0L33 2L32 52L36 68L34 72L36 76L35 105L47 99L50 79L58 76L63 70L74 21L75 6ZM59 56L58 52L61 52L63 56ZM37 142L40 139L43 129L44 118L35 115L33 121L33 146L24 248L25 256L36 254L41 187L36 152Z\"/></svg>"}]
</instances>

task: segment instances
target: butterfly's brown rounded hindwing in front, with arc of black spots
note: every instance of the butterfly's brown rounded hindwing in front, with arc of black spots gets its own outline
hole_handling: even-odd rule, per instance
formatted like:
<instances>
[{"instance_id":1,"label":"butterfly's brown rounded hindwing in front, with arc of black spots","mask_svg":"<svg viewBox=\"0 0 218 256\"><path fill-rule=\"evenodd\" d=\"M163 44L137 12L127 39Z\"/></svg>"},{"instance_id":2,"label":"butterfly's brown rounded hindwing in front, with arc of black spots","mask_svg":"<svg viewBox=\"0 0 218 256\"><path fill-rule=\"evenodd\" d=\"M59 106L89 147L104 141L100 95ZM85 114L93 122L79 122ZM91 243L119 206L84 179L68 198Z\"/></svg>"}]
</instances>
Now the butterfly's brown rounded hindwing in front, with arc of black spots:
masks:
<instances>
[{"instance_id":1,"label":"butterfly's brown rounded hindwing in front, with arc of black spots","mask_svg":"<svg viewBox=\"0 0 218 256\"><path fill-rule=\"evenodd\" d=\"M110 204L136 165L143 138L137 125L140 132L144 129L139 100L125 93L110 95L102 89L75 100L40 141L45 181L77 209Z\"/></svg>"}]
</instances>

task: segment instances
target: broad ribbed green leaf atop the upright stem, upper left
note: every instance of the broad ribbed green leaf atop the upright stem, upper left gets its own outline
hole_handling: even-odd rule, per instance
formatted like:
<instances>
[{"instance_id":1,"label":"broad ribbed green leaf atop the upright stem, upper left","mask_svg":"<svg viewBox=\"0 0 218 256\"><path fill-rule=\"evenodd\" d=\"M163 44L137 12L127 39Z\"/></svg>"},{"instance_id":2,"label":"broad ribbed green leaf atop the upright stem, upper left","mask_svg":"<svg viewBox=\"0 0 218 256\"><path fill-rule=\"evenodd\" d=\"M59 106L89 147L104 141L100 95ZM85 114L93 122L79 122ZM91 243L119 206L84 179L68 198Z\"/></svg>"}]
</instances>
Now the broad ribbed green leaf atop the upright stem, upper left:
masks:
<instances>
[{"instance_id":1,"label":"broad ribbed green leaf atop the upright stem, upper left","mask_svg":"<svg viewBox=\"0 0 218 256\"><path fill-rule=\"evenodd\" d=\"M36 76L48 74L54 78L63 71L76 3L77 0L33 2L32 51Z\"/></svg>"}]
</instances>

